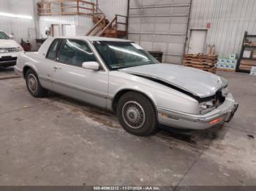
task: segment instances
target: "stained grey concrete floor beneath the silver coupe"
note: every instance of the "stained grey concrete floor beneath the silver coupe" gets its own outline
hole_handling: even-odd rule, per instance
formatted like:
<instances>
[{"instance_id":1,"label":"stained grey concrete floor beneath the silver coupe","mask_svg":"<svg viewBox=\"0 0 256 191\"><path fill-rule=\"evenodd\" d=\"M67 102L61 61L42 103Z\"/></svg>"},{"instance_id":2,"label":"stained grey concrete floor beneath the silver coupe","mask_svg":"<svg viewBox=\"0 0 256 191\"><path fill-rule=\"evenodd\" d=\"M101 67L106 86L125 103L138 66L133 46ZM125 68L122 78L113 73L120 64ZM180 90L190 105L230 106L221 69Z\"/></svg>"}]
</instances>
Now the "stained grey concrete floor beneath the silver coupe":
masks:
<instances>
[{"instance_id":1,"label":"stained grey concrete floor beneath the silver coupe","mask_svg":"<svg viewBox=\"0 0 256 191\"><path fill-rule=\"evenodd\" d=\"M219 72L240 107L219 128L138 137L116 117L0 70L0 185L256 185L256 77Z\"/></svg>"}]
</instances>

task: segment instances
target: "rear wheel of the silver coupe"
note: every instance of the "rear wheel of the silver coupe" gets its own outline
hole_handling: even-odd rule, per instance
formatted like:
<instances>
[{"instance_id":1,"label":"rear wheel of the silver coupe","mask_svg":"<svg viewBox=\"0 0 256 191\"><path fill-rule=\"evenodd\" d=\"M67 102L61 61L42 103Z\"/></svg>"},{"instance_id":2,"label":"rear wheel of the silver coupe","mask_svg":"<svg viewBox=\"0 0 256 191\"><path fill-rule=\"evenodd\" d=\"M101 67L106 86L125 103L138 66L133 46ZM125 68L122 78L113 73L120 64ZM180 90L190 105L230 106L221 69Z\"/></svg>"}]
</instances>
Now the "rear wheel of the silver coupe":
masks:
<instances>
[{"instance_id":1,"label":"rear wheel of the silver coupe","mask_svg":"<svg viewBox=\"0 0 256 191\"><path fill-rule=\"evenodd\" d=\"M29 69L26 71L26 87L29 90L29 93L36 98L43 98L48 93L48 90L43 88L40 85L39 79L34 70Z\"/></svg>"}]
</instances>

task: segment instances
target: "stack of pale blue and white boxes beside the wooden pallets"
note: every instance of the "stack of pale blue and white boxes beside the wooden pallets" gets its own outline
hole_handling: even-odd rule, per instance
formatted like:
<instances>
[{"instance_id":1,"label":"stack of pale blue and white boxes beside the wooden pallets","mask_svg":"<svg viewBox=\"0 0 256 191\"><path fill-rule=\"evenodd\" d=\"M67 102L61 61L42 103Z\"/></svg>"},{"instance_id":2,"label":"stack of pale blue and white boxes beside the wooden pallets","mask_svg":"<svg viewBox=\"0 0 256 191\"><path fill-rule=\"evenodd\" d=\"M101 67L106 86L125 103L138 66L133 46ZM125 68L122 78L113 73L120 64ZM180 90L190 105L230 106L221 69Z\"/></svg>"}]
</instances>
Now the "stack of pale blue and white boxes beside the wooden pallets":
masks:
<instances>
[{"instance_id":1,"label":"stack of pale blue and white boxes beside the wooden pallets","mask_svg":"<svg viewBox=\"0 0 256 191\"><path fill-rule=\"evenodd\" d=\"M218 70L235 71L236 64L237 64L236 55L231 54L229 59L219 58L216 66Z\"/></svg>"}]
</instances>

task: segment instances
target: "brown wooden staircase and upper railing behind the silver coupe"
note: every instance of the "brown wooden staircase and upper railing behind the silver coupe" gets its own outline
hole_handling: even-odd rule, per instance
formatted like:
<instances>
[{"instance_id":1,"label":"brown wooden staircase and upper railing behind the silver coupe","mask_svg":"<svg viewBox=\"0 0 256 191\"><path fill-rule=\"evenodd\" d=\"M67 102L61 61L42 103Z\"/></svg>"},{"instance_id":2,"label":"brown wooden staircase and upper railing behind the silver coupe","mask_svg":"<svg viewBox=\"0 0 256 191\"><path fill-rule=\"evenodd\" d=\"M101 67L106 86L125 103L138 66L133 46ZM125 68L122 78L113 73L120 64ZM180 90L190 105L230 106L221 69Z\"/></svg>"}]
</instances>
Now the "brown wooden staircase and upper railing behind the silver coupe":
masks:
<instances>
[{"instance_id":1,"label":"brown wooden staircase and upper railing behind the silver coupe","mask_svg":"<svg viewBox=\"0 0 256 191\"><path fill-rule=\"evenodd\" d=\"M48 0L37 3L38 16L80 15L92 17L94 26L86 36L105 36L125 38L128 31L128 17L116 15L108 20L99 7L90 1L83 0Z\"/></svg>"}]
</instances>

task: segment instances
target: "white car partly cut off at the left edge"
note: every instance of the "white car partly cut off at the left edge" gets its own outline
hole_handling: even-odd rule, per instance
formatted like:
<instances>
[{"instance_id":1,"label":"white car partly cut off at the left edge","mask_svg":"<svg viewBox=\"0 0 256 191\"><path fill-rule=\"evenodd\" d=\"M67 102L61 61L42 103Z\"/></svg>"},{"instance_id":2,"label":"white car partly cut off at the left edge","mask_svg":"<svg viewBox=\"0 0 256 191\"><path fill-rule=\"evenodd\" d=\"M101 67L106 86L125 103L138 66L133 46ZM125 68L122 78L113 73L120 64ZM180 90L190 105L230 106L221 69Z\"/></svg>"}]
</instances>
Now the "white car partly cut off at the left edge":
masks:
<instances>
[{"instance_id":1,"label":"white car partly cut off at the left edge","mask_svg":"<svg viewBox=\"0 0 256 191\"><path fill-rule=\"evenodd\" d=\"M10 39L4 31L0 31L0 66L15 66L18 55L23 52L20 44Z\"/></svg>"}]
</instances>

